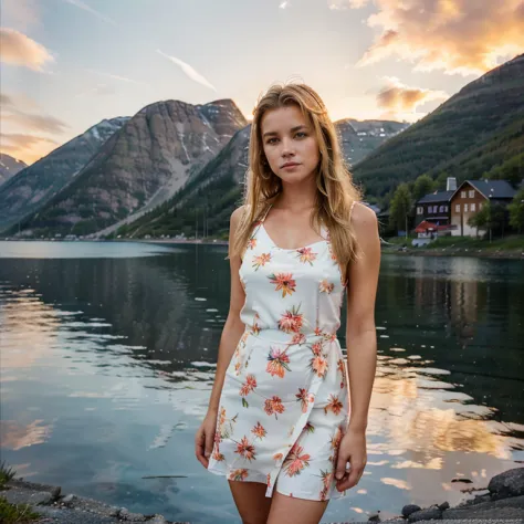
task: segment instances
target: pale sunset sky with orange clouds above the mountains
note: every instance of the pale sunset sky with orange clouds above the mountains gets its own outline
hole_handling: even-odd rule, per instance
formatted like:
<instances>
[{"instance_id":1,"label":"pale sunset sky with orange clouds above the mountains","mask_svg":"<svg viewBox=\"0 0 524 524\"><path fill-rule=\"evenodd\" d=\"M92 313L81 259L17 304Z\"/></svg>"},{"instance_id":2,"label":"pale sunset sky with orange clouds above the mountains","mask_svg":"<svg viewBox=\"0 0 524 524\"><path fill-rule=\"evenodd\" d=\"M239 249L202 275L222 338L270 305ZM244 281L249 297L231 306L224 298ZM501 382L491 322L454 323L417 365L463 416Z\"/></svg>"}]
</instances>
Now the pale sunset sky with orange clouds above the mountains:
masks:
<instances>
[{"instance_id":1,"label":"pale sunset sky with orange clouds above the mountains","mask_svg":"<svg viewBox=\"0 0 524 524\"><path fill-rule=\"evenodd\" d=\"M165 99L305 82L329 116L416 122L524 52L524 0L0 0L0 150L31 164Z\"/></svg>"}]
</instances>

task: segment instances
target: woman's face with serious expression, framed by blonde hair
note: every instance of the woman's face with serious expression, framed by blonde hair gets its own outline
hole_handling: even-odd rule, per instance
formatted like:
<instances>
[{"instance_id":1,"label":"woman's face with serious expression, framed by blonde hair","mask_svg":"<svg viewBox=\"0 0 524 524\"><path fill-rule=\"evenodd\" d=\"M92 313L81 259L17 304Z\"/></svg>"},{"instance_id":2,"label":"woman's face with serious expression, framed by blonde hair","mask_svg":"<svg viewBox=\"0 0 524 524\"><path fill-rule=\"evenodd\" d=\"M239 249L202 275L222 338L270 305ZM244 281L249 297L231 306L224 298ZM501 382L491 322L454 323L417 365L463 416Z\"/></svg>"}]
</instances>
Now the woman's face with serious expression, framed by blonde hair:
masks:
<instances>
[{"instance_id":1,"label":"woman's face with serious expression, framed by blonde hair","mask_svg":"<svg viewBox=\"0 0 524 524\"><path fill-rule=\"evenodd\" d=\"M271 170L283 181L302 181L316 171L318 140L295 104L268 111L262 117L261 136Z\"/></svg>"}]
</instances>

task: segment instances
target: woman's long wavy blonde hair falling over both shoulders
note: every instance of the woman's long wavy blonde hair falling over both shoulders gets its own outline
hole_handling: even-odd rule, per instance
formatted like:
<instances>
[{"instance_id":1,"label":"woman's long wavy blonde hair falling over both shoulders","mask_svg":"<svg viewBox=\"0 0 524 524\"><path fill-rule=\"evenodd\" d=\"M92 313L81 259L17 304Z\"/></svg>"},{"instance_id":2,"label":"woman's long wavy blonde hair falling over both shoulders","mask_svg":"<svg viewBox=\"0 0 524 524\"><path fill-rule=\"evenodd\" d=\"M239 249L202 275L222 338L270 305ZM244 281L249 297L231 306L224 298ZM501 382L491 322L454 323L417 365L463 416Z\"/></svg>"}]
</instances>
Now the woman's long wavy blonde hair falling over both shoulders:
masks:
<instances>
[{"instance_id":1,"label":"woman's long wavy blonde hair falling over both shoulders","mask_svg":"<svg viewBox=\"0 0 524 524\"><path fill-rule=\"evenodd\" d=\"M338 142L336 128L318 94L305 84L274 84L259 98L253 111L249 146L249 169L244 185L244 213L237 228L230 255L242 256L252 228L265 212L270 201L282 192L282 180L271 170L263 150L261 122L268 111L295 104L313 125L321 161L316 174L316 206L312 213L313 228L323 222L329 231L333 254L347 282L347 266L356 258L357 245L350 223L353 203L360 191L353 182ZM228 258L229 258L228 256Z\"/></svg>"}]
</instances>

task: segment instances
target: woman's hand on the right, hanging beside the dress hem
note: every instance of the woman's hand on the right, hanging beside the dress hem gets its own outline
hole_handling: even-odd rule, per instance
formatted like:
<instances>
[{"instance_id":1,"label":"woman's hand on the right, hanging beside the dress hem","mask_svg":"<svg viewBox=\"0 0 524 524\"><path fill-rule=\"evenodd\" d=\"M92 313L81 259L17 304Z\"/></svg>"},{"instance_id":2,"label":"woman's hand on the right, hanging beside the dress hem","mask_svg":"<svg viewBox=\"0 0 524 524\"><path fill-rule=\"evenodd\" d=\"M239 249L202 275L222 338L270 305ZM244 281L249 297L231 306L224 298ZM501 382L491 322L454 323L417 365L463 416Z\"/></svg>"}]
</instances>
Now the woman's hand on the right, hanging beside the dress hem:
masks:
<instances>
[{"instance_id":1,"label":"woman's hand on the right, hanging beside the dress hem","mask_svg":"<svg viewBox=\"0 0 524 524\"><path fill-rule=\"evenodd\" d=\"M349 490L358 484L364 473L366 461L366 432L349 428L344 434L338 449L335 478L336 489L339 492ZM346 470L347 462L350 464L348 471Z\"/></svg>"}]
</instances>

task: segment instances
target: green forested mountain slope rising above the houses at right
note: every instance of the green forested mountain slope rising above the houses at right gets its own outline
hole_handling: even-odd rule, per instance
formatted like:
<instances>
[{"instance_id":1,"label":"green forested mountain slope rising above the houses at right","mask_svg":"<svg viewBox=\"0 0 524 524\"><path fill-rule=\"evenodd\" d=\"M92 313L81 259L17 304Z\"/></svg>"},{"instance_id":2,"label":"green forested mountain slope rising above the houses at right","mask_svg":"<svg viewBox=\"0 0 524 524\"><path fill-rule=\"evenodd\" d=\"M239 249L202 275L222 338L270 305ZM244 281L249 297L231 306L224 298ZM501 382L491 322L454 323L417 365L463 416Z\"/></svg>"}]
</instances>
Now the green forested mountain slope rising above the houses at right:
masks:
<instances>
[{"instance_id":1,"label":"green forested mountain slope rising above the houses at right","mask_svg":"<svg viewBox=\"0 0 524 524\"><path fill-rule=\"evenodd\" d=\"M523 93L524 55L520 55L374 150L355 166L355 179L367 193L379 197L422 174L453 176L460 182L497 169L524 151Z\"/></svg>"}]
</instances>

